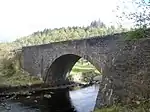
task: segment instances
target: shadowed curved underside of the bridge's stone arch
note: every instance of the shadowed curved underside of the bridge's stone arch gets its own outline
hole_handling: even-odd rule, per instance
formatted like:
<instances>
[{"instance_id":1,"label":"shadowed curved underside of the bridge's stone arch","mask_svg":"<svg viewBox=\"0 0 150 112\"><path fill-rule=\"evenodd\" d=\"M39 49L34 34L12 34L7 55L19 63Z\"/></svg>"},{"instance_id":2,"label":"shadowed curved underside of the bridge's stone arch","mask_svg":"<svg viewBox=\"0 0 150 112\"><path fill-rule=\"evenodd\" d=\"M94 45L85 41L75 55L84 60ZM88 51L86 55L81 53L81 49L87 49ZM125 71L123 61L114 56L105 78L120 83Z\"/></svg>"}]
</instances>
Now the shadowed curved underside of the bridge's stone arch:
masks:
<instances>
[{"instance_id":1,"label":"shadowed curved underside of the bridge's stone arch","mask_svg":"<svg viewBox=\"0 0 150 112\"><path fill-rule=\"evenodd\" d=\"M46 70L44 81L52 85L64 84L67 73L70 73L75 63L84 58L95 66L99 71L101 68L92 61L88 56L79 56L76 54L63 54L57 57Z\"/></svg>"}]
</instances>

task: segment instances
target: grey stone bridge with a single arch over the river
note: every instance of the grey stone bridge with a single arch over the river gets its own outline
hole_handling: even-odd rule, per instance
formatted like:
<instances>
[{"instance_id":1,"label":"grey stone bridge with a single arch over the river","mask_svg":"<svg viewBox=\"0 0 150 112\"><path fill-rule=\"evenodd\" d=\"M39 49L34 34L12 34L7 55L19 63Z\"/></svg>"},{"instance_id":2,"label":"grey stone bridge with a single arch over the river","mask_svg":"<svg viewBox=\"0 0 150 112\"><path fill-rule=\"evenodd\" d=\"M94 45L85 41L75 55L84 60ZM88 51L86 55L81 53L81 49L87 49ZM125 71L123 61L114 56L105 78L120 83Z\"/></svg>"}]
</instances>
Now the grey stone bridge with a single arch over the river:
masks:
<instances>
[{"instance_id":1,"label":"grey stone bridge with a single arch over the river","mask_svg":"<svg viewBox=\"0 0 150 112\"><path fill-rule=\"evenodd\" d=\"M149 98L149 39L124 41L114 34L23 47L24 70L51 85L65 83L80 58L102 69L97 108Z\"/></svg>"}]
</instances>

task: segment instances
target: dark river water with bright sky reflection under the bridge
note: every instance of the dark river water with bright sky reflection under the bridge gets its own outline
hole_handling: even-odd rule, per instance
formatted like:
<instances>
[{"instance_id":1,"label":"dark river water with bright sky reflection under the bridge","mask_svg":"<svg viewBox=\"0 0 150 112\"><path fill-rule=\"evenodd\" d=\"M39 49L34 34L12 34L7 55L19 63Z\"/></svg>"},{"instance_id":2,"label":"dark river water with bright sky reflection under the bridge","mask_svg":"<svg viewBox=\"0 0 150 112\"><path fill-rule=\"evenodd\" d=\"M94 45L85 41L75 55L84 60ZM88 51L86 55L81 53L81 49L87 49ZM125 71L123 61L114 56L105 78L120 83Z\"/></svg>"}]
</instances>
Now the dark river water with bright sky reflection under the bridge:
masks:
<instances>
[{"instance_id":1,"label":"dark river water with bright sky reflection under the bridge","mask_svg":"<svg viewBox=\"0 0 150 112\"><path fill-rule=\"evenodd\" d=\"M51 98L43 94L34 97L18 97L15 100L0 102L0 112L91 112L96 103L98 86L80 90L67 89L50 92Z\"/></svg>"}]
</instances>

